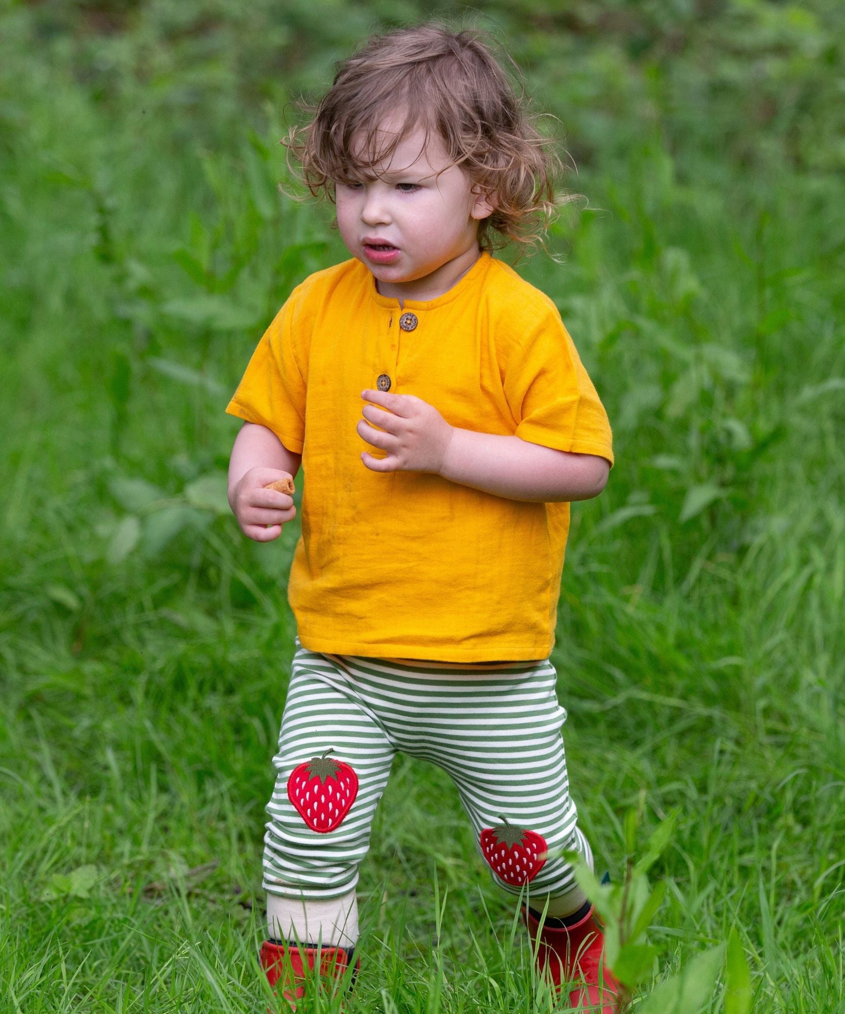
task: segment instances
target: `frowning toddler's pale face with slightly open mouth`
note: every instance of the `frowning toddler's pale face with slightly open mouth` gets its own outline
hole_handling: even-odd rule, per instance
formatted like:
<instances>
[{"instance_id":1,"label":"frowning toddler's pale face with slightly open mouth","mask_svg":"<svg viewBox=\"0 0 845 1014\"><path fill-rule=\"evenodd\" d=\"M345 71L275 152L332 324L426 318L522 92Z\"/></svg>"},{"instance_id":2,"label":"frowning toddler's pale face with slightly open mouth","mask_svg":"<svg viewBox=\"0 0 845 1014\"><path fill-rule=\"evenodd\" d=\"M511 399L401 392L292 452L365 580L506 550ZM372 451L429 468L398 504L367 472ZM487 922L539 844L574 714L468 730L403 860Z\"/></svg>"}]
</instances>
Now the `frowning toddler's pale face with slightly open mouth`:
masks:
<instances>
[{"instance_id":1,"label":"frowning toddler's pale face with slightly open mouth","mask_svg":"<svg viewBox=\"0 0 845 1014\"><path fill-rule=\"evenodd\" d=\"M400 125L401 120L391 119L379 129L387 132ZM492 205L471 193L472 183L460 166L450 165L435 178L449 158L439 135L430 136L425 151L424 141L420 127L403 137L389 161L376 167L384 178L356 172L352 179L335 180L337 227L343 242L384 283L379 288L385 294L412 298L425 288L426 279L448 262L457 259L456 264L465 267L467 259L474 260L478 252L478 222L492 211ZM375 250L368 240L393 248ZM403 289L403 283L410 282L415 284Z\"/></svg>"}]
</instances>

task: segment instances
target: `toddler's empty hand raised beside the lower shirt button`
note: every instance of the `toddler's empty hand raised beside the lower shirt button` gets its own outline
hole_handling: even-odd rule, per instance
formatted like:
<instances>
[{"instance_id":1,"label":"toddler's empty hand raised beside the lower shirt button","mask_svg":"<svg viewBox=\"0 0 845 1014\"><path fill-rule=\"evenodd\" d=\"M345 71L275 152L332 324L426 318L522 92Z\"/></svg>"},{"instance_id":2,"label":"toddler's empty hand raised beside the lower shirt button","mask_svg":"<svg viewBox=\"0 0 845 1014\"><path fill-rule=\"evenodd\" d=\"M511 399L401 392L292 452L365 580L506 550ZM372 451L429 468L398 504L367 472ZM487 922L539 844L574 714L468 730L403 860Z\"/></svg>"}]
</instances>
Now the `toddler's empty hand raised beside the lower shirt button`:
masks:
<instances>
[{"instance_id":1,"label":"toddler's empty hand raised beside the lower shirt button","mask_svg":"<svg viewBox=\"0 0 845 1014\"><path fill-rule=\"evenodd\" d=\"M388 394L369 388L361 396L389 410L385 412L372 405L362 409L364 419L356 427L358 435L374 447L387 451L387 457L383 458L364 451L361 460L368 468L372 472L440 473L454 427L433 405L414 394ZM386 432L368 423L375 423Z\"/></svg>"}]
</instances>

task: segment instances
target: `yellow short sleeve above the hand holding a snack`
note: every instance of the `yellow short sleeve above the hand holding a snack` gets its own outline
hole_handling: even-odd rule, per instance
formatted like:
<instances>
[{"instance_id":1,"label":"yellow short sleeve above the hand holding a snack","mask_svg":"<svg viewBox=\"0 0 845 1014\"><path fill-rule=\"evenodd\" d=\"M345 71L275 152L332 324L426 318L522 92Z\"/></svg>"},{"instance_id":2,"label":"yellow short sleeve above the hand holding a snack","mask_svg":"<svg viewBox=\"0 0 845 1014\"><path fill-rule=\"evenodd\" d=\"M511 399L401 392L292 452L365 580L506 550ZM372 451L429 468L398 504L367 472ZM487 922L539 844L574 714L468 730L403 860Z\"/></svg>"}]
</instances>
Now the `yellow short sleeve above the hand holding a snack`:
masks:
<instances>
[{"instance_id":1,"label":"yellow short sleeve above the hand holding a snack","mask_svg":"<svg viewBox=\"0 0 845 1014\"><path fill-rule=\"evenodd\" d=\"M288 450L301 454L306 382L294 350L296 294L295 289L255 347L226 412L265 426Z\"/></svg>"}]
</instances>

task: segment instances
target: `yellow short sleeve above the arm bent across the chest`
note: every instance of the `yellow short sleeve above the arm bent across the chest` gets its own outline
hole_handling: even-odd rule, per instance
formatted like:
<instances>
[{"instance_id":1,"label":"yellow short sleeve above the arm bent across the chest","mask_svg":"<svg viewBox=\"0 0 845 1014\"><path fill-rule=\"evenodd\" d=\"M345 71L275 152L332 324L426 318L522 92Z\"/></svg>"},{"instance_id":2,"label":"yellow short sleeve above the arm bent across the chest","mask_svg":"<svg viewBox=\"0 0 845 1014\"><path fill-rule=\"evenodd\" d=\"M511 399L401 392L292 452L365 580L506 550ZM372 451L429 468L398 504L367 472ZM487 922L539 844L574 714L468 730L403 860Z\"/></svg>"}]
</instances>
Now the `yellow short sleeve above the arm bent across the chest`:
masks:
<instances>
[{"instance_id":1,"label":"yellow short sleeve above the arm bent across the chest","mask_svg":"<svg viewBox=\"0 0 845 1014\"><path fill-rule=\"evenodd\" d=\"M556 307L543 311L510 353L504 383L518 437L613 464L607 413Z\"/></svg>"}]
</instances>

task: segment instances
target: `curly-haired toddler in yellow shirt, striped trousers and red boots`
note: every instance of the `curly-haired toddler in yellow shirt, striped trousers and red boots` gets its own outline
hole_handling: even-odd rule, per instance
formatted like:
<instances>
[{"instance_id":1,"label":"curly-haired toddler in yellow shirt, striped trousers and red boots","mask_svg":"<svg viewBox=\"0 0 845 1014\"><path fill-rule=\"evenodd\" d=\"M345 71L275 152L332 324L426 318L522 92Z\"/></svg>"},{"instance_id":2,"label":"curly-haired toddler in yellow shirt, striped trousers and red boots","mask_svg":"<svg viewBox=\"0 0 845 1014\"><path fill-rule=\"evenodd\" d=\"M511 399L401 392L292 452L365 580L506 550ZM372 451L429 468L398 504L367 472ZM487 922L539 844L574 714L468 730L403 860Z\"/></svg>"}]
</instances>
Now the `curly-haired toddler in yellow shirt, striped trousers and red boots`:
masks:
<instances>
[{"instance_id":1,"label":"curly-haired toddler in yellow shirt, striped trousers and red boots","mask_svg":"<svg viewBox=\"0 0 845 1014\"><path fill-rule=\"evenodd\" d=\"M296 509L267 487L304 470L261 963L293 1009L353 964L401 750L455 781L541 970L610 1012L602 929L560 857L592 865L549 654L569 502L604 488L611 431L555 304L492 256L542 234L555 159L490 47L437 22L370 39L301 130L289 148L352 258L291 292L226 410L244 534L279 536Z\"/></svg>"}]
</instances>

